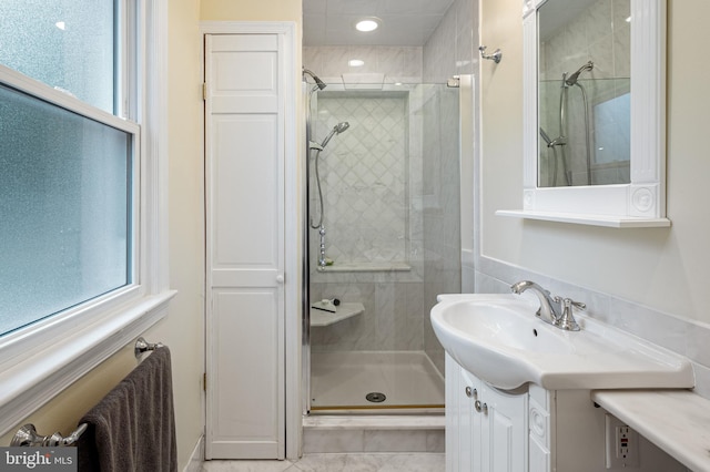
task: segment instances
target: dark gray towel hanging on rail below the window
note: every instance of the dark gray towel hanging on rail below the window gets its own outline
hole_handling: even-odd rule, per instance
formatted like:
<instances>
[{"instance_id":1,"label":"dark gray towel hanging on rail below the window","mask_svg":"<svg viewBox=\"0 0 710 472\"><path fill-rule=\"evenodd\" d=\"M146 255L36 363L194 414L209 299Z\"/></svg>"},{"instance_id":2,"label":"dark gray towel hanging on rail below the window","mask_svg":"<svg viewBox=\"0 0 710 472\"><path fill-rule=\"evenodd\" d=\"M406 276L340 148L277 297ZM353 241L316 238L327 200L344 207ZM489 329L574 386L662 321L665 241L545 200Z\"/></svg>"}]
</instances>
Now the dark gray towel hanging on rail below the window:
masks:
<instances>
[{"instance_id":1,"label":"dark gray towel hanging on rail below the window","mask_svg":"<svg viewBox=\"0 0 710 472\"><path fill-rule=\"evenodd\" d=\"M178 470L170 350L154 350L80 421L79 471Z\"/></svg>"}]
</instances>

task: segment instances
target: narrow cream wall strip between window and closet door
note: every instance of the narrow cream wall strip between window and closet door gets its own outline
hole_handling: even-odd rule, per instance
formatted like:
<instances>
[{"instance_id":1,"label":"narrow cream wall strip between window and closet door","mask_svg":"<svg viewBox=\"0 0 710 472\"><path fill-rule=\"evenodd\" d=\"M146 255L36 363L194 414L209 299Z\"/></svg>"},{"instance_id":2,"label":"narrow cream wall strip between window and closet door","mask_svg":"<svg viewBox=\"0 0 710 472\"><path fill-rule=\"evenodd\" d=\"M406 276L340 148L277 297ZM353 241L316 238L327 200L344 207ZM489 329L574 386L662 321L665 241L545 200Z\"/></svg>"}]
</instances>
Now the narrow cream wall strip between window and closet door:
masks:
<instances>
[{"instance_id":1,"label":"narrow cream wall strip between window and closet door","mask_svg":"<svg viewBox=\"0 0 710 472\"><path fill-rule=\"evenodd\" d=\"M170 284L178 296L154 339L166 339L173 352L178 455L183 468L204 425L202 44L200 0L171 0L169 6Z\"/></svg>"}]
</instances>

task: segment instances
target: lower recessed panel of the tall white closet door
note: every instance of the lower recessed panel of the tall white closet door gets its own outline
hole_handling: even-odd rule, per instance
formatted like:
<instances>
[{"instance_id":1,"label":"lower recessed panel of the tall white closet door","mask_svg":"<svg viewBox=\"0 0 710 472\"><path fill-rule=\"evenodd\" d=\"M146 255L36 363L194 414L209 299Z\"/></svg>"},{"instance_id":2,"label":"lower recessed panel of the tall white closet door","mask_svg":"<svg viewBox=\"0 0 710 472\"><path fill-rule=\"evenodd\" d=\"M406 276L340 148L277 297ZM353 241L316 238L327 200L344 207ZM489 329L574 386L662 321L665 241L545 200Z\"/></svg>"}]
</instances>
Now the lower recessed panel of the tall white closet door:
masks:
<instances>
[{"instance_id":1,"label":"lower recessed panel of the tall white closet door","mask_svg":"<svg viewBox=\"0 0 710 472\"><path fill-rule=\"evenodd\" d=\"M273 289L215 290L213 293L214 390L213 458L233 456L234 443L250 443L250 455L277 455L280 379L277 351L278 307ZM257 352L246 356L245 352ZM246 361L245 361L246 360Z\"/></svg>"}]
</instances>

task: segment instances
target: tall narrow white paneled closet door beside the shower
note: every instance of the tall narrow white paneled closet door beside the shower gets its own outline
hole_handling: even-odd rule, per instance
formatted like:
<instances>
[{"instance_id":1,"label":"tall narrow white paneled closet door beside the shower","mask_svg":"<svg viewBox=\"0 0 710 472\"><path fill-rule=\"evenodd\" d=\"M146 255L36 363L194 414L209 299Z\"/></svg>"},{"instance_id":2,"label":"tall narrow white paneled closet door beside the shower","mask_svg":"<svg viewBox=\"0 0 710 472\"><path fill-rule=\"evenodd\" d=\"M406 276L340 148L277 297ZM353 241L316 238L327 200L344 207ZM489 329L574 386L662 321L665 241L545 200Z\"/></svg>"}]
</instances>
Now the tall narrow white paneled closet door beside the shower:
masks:
<instances>
[{"instance_id":1,"label":"tall narrow white paneled closet door beside the shower","mask_svg":"<svg viewBox=\"0 0 710 472\"><path fill-rule=\"evenodd\" d=\"M283 459L278 34L205 35L207 459Z\"/></svg>"}]
</instances>

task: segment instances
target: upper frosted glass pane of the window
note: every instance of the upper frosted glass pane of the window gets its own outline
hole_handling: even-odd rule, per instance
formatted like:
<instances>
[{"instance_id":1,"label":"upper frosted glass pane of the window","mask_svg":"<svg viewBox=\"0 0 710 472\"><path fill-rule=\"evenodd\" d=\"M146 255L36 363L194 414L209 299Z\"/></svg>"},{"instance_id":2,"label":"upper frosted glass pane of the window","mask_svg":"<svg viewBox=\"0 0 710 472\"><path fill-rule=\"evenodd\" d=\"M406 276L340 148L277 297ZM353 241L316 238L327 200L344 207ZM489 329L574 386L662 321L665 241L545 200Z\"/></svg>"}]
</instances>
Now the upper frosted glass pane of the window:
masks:
<instances>
[{"instance_id":1,"label":"upper frosted glass pane of the window","mask_svg":"<svg viewBox=\"0 0 710 472\"><path fill-rule=\"evenodd\" d=\"M0 64L114 113L114 0L0 1Z\"/></svg>"}]
</instances>

